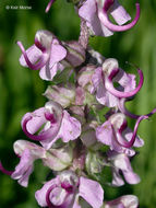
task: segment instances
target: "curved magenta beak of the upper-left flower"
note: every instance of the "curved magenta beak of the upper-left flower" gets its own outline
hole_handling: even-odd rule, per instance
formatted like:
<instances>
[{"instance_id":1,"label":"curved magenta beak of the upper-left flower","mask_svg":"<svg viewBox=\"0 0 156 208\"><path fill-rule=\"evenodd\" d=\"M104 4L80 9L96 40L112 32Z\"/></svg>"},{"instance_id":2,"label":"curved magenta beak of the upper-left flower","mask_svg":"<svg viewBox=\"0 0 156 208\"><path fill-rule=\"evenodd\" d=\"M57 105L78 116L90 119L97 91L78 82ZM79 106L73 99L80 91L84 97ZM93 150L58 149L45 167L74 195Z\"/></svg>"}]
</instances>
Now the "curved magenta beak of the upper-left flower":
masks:
<instances>
[{"instance_id":1,"label":"curved magenta beak of the upper-left flower","mask_svg":"<svg viewBox=\"0 0 156 208\"><path fill-rule=\"evenodd\" d=\"M22 54L23 54L23 56L24 56L24 58L25 58L25 61L26 61L27 66L28 66L31 69L33 69L33 70L38 70L38 69L40 69L41 67L44 67L44 66L46 65L46 62L47 62L47 60L48 60L48 58L49 58L49 54L46 53L46 50L43 51L43 55L41 55L41 57L40 57L40 60L38 60L37 63L32 63L31 60L29 60L28 57L27 57L27 54L26 54L26 51L25 51L25 48L24 48L23 44L22 44L21 42L17 42L17 45L19 45L19 47L20 47L20 49L21 49L21 51L22 51ZM39 48L39 49L40 49L40 48ZM45 48L43 48L43 49L45 49Z\"/></svg>"}]
</instances>

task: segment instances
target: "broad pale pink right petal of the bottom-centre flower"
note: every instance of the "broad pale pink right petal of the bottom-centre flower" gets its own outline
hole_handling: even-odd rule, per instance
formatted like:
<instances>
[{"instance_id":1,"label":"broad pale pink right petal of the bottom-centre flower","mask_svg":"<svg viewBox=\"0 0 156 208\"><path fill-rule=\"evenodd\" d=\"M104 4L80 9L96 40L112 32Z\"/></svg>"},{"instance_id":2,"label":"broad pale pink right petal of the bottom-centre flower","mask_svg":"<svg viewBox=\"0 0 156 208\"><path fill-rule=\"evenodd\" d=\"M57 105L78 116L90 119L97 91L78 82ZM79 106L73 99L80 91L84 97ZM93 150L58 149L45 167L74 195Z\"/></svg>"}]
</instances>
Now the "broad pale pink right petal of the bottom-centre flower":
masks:
<instances>
[{"instance_id":1,"label":"broad pale pink right petal of the bottom-centre flower","mask_svg":"<svg viewBox=\"0 0 156 208\"><path fill-rule=\"evenodd\" d=\"M104 190L97 182L81 176L79 192L93 208L103 206Z\"/></svg>"}]
</instances>

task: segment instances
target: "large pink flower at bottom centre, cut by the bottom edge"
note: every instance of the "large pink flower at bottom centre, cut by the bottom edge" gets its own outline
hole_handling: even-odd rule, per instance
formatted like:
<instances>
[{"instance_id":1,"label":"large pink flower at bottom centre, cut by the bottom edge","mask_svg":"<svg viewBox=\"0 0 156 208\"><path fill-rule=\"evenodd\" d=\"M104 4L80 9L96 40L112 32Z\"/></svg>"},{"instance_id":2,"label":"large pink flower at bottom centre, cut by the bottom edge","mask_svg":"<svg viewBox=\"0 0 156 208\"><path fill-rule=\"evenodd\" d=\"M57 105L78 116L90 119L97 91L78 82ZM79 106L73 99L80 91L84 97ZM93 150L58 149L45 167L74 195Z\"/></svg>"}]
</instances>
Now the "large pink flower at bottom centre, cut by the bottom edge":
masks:
<instances>
[{"instance_id":1,"label":"large pink flower at bottom centre, cut by the bottom edge","mask_svg":"<svg viewBox=\"0 0 156 208\"><path fill-rule=\"evenodd\" d=\"M97 182L64 171L47 182L35 197L41 207L81 208L79 197L82 197L93 208L100 208L104 190Z\"/></svg>"}]
</instances>

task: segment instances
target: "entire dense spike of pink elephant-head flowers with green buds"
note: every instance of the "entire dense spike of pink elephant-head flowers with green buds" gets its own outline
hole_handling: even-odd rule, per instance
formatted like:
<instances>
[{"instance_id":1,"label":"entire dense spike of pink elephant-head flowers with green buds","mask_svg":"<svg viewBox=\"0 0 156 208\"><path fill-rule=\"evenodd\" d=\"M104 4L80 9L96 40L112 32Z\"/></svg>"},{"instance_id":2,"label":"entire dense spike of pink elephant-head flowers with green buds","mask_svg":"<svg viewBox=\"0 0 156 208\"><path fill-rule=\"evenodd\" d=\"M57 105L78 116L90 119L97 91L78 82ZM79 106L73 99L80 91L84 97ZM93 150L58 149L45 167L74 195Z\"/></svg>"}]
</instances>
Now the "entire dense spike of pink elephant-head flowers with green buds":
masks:
<instances>
[{"instance_id":1,"label":"entire dense spike of pink elephant-head flowers with green buds","mask_svg":"<svg viewBox=\"0 0 156 208\"><path fill-rule=\"evenodd\" d=\"M53 0L47 12L52 3ZM48 99L45 106L26 113L21 122L24 134L38 145L15 141L20 163L14 171L7 171L0 163L0 170L26 187L34 162L41 160L55 177L35 193L40 207L136 208L137 197L124 195L107 201L104 189L140 182L130 161L135 155L134 148L144 145L137 135L139 125L156 108L146 115L130 113L124 103L141 90L142 70L136 69L140 77L136 84L135 74L125 72L118 60L103 57L87 44L89 35L109 36L134 26L140 4L136 3L134 20L123 25L131 16L117 0L73 0L73 3L82 21L77 42L61 42L44 30L36 33L34 45L26 50L17 42L22 50L20 63L40 70L40 78L51 83L44 94ZM109 14L118 25L110 22ZM133 129L127 116L135 119ZM111 178L103 183L101 172L106 167Z\"/></svg>"}]
</instances>

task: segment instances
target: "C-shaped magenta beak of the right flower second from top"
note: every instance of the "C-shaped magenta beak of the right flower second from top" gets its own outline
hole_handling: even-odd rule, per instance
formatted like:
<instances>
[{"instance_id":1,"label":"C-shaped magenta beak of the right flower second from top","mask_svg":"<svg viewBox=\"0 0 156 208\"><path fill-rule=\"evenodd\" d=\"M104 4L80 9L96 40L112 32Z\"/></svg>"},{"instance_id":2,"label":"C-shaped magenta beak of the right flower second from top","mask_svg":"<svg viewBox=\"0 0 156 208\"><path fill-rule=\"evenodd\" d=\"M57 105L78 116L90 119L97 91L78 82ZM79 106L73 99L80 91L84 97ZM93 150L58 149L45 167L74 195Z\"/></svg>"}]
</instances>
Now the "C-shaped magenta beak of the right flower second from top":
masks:
<instances>
[{"instance_id":1,"label":"C-shaped magenta beak of the right flower second from top","mask_svg":"<svg viewBox=\"0 0 156 208\"><path fill-rule=\"evenodd\" d=\"M143 77L142 70L137 69L137 72L140 76L140 82L139 82L137 86L130 92L121 92L121 91L118 91L113 88L112 78L117 74L117 72L118 72L118 70L113 69L109 77L106 76L104 78L106 90L108 90L112 95L120 97L120 99L130 97L130 96L135 95L141 90L143 82L144 82L144 77Z\"/></svg>"}]
</instances>

